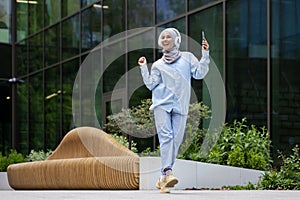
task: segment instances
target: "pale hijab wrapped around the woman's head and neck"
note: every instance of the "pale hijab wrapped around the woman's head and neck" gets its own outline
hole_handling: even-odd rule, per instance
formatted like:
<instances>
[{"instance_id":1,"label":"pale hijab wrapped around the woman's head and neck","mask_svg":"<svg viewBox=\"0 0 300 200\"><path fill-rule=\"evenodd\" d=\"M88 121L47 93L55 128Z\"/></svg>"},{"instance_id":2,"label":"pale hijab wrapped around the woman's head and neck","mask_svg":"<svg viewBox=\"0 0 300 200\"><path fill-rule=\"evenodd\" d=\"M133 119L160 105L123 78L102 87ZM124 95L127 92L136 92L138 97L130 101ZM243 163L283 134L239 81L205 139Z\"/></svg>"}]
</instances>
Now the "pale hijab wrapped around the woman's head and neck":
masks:
<instances>
[{"instance_id":1,"label":"pale hijab wrapped around the woman's head and neck","mask_svg":"<svg viewBox=\"0 0 300 200\"><path fill-rule=\"evenodd\" d=\"M181 52L179 51L179 46L180 46L180 43L181 43L181 36L180 36L180 33L177 29L175 28L167 28L167 29L164 29L160 34L159 34L159 37L158 37L158 46L162 47L162 41L161 41L161 37L162 37L162 34L167 31L172 39L173 39L173 42L174 42L174 46L168 50L168 51L165 51L163 50L163 61L165 61L166 63L172 63L174 61L176 61L180 56L181 56Z\"/></svg>"}]
</instances>

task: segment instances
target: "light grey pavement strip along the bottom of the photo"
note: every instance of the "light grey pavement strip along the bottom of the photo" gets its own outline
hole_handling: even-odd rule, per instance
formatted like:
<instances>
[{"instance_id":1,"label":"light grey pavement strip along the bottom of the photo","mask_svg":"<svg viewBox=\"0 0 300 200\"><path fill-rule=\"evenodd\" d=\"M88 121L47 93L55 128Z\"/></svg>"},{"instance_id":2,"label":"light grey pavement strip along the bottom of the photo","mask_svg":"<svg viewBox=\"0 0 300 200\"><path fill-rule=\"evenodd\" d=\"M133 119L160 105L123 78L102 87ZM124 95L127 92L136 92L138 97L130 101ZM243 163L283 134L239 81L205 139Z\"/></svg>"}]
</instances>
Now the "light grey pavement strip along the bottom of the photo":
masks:
<instances>
[{"instance_id":1,"label":"light grey pavement strip along the bottom of the photo","mask_svg":"<svg viewBox=\"0 0 300 200\"><path fill-rule=\"evenodd\" d=\"M278 190L0 190L1 200L300 200L300 191Z\"/></svg>"}]
</instances>

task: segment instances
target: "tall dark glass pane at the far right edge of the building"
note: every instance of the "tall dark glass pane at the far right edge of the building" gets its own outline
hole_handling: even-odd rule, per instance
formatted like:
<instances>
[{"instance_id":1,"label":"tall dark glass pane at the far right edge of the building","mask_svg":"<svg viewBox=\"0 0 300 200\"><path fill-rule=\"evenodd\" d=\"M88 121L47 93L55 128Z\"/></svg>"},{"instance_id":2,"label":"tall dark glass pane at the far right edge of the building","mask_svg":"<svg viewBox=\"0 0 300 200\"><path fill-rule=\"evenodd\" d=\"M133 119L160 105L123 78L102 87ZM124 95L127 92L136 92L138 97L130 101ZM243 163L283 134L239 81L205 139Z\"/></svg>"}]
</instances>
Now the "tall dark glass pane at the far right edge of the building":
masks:
<instances>
[{"instance_id":1,"label":"tall dark glass pane at the far right edge of the building","mask_svg":"<svg viewBox=\"0 0 300 200\"><path fill-rule=\"evenodd\" d=\"M272 0L271 5L271 139L274 149L290 151L300 143L300 2Z\"/></svg>"}]
</instances>

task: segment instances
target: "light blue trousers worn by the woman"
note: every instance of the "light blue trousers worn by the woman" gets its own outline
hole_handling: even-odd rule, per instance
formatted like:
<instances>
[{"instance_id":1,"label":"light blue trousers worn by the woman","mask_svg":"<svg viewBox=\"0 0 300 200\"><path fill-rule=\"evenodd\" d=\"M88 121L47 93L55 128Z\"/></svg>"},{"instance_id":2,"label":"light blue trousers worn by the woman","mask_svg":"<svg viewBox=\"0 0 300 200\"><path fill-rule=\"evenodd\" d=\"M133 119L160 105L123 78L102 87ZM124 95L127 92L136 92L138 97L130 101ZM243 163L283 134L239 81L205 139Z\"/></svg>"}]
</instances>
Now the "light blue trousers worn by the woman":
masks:
<instances>
[{"instance_id":1,"label":"light blue trousers worn by the woman","mask_svg":"<svg viewBox=\"0 0 300 200\"><path fill-rule=\"evenodd\" d=\"M161 172L173 168L179 147L182 143L187 115L167 112L161 108L154 109L155 126L160 144Z\"/></svg>"}]
</instances>

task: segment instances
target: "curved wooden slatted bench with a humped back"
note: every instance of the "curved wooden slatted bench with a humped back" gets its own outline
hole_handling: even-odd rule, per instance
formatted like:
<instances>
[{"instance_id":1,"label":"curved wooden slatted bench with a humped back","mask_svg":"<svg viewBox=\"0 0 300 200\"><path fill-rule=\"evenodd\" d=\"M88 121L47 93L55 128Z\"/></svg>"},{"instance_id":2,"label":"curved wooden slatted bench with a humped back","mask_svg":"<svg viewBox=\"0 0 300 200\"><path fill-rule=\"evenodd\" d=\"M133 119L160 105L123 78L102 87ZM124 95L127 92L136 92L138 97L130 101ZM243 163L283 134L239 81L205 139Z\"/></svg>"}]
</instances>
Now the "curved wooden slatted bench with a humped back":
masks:
<instances>
[{"instance_id":1,"label":"curved wooden slatted bench with a humped back","mask_svg":"<svg viewBox=\"0 0 300 200\"><path fill-rule=\"evenodd\" d=\"M92 127L71 130L45 161L10 165L13 189L138 189L139 157Z\"/></svg>"}]
</instances>

